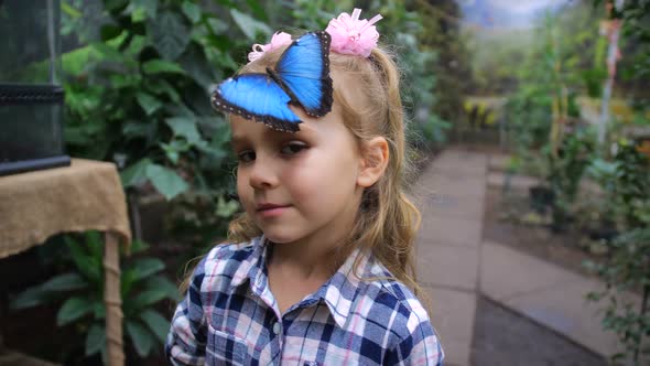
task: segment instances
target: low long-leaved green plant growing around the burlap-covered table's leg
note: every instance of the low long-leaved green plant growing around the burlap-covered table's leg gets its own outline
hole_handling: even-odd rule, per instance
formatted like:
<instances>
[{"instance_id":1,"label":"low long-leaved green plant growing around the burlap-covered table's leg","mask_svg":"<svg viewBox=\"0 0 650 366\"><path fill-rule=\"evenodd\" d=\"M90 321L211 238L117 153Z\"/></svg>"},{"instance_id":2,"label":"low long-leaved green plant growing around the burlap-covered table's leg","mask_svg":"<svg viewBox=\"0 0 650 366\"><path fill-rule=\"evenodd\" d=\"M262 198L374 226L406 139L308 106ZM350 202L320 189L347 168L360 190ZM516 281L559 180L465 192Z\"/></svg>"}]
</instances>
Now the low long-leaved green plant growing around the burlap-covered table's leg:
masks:
<instances>
[{"instance_id":1,"label":"low long-leaved green plant growing around the burlap-covered table's leg","mask_svg":"<svg viewBox=\"0 0 650 366\"><path fill-rule=\"evenodd\" d=\"M79 241L66 236L72 272L58 274L15 295L13 310L58 304L57 326L74 325L85 336L85 356L101 354L106 363L106 304L104 302L104 265L101 236L97 232L84 234ZM142 255L148 246L133 241L133 255ZM164 299L178 300L175 284L160 272L164 263L154 258L132 257L121 270L120 295L127 338L136 352L145 357L164 344L169 321L154 306ZM80 337L82 338L82 337Z\"/></svg>"}]
</instances>

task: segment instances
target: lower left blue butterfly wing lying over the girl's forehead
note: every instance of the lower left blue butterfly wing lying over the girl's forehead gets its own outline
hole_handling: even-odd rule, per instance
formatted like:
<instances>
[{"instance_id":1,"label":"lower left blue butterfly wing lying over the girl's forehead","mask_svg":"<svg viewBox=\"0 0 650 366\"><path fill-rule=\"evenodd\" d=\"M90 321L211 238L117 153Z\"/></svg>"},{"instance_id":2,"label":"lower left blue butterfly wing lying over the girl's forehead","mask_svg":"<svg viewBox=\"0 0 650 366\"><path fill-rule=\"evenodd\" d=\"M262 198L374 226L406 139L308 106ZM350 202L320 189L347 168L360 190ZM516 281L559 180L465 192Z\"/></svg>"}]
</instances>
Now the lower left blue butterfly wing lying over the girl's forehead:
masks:
<instances>
[{"instance_id":1,"label":"lower left blue butterfly wing lying over the girl's forehead","mask_svg":"<svg viewBox=\"0 0 650 366\"><path fill-rule=\"evenodd\" d=\"M295 132L300 118L289 108L291 97L267 74L241 74L219 84L210 98L213 107L275 130Z\"/></svg>"}]
</instances>

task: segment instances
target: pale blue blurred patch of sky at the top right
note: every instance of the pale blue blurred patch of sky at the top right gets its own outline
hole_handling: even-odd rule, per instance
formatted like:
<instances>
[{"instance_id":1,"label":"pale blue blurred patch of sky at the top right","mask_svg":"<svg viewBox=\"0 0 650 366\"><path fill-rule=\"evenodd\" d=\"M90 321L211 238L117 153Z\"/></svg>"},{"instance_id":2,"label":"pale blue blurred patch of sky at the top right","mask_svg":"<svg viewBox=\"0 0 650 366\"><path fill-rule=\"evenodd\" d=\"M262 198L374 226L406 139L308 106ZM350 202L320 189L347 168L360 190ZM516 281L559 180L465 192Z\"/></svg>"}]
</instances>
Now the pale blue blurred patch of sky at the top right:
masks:
<instances>
[{"instance_id":1,"label":"pale blue blurred patch of sky at the top right","mask_svg":"<svg viewBox=\"0 0 650 366\"><path fill-rule=\"evenodd\" d=\"M470 24L483 28L526 29L533 25L537 17L554 11L572 0L456 0L463 18Z\"/></svg>"}]
</instances>

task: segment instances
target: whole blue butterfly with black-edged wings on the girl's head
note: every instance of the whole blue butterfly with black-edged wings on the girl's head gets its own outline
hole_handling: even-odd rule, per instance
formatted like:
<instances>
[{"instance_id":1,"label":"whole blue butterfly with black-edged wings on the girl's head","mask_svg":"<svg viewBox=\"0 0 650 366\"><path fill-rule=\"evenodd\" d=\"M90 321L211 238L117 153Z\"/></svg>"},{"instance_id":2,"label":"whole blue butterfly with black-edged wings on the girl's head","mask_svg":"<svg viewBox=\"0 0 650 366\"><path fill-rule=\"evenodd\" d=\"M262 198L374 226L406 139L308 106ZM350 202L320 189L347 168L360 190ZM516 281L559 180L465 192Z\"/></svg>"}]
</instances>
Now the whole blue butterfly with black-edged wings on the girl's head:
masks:
<instances>
[{"instance_id":1,"label":"whole blue butterfly with black-edged wings on the girl's head","mask_svg":"<svg viewBox=\"0 0 650 366\"><path fill-rule=\"evenodd\" d=\"M240 74L224 80L213 93L213 107L262 122L275 130L295 132L302 121L289 104L313 117L332 110L329 43L327 32L310 32L293 41L275 69Z\"/></svg>"}]
</instances>

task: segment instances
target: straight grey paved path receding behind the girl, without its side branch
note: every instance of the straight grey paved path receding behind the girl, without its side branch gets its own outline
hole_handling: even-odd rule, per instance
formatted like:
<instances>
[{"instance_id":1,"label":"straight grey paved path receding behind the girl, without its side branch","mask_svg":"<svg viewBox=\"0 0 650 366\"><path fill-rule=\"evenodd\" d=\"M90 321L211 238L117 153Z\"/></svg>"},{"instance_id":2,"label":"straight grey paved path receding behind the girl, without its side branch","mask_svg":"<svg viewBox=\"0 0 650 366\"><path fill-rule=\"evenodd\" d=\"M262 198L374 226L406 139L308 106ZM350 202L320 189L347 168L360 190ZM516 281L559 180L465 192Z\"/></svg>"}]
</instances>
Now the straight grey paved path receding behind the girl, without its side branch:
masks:
<instances>
[{"instance_id":1,"label":"straight grey paved path receding behind the girl, without its side branch","mask_svg":"<svg viewBox=\"0 0 650 366\"><path fill-rule=\"evenodd\" d=\"M418 278L431 298L431 317L446 353L445 365L469 365L486 175L486 157L445 151L413 187L422 212Z\"/></svg>"}]
</instances>

